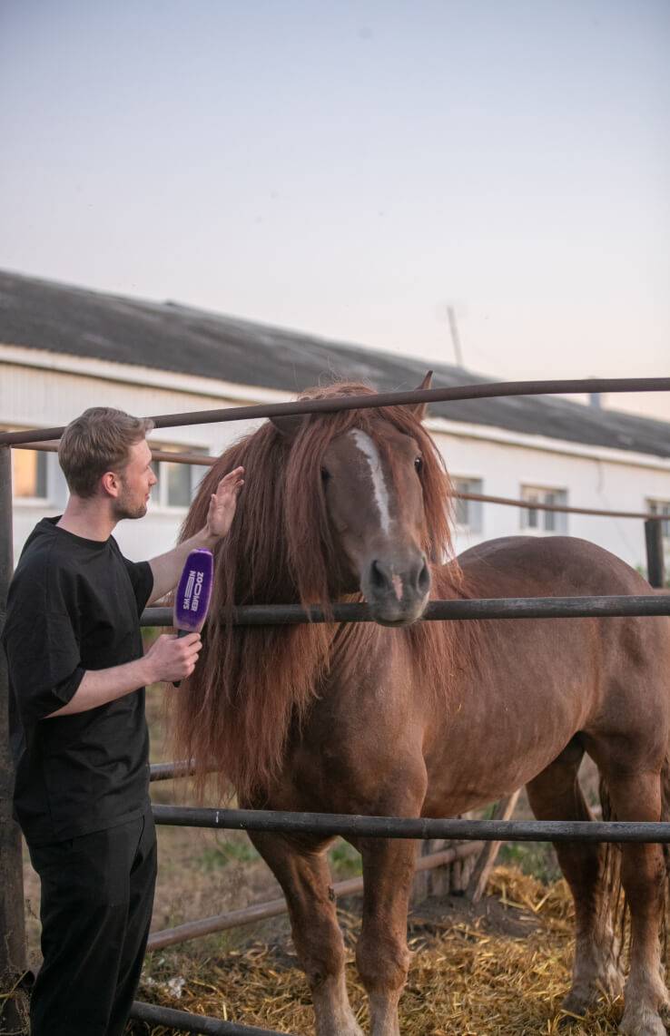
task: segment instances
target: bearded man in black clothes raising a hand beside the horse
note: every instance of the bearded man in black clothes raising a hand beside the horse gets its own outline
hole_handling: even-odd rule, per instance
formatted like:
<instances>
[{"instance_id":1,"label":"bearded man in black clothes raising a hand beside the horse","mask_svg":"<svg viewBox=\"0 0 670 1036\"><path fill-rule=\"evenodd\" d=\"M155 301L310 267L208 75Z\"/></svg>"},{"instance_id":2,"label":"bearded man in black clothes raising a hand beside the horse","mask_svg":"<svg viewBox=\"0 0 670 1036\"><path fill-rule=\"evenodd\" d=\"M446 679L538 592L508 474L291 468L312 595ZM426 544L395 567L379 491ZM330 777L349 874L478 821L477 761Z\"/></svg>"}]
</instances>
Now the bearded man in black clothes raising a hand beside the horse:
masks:
<instances>
[{"instance_id":1,"label":"bearded man in black clothes raising a hand beside the horse","mask_svg":"<svg viewBox=\"0 0 670 1036\"><path fill-rule=\"evenodd\" d=\"M125 559L111 534L146 513L151 427L103 407L67 426L65 511L36 525L9 588L15 815L41 881L32 1036L123 1032L156 879L144 687L188 677L201 646L197 633L163 635L144 655L139 615L176 585L191 550L226 535L243 485L242 468L221 480L192 539Z\"/></svg>"}]
</instances>

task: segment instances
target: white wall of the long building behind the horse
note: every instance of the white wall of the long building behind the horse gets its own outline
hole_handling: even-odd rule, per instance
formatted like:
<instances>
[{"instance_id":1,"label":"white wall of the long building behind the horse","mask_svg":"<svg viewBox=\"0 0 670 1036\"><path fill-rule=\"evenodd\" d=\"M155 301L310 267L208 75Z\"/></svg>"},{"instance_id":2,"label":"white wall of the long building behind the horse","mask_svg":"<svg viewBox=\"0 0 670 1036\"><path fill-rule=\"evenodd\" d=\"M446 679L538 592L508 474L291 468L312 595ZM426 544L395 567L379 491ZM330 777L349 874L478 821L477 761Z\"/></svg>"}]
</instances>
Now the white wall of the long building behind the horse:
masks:
<instances>
[{"instance_id":1,"label":"white wall of the long building behind the horse","mask_svg":"<svg viewBox=\"0 0 670 1036\"><path fill-rule=\"evenodd\" d=\"M161 414L281 402L287 398L271 390L197 376L0 347L0 427L5 429L59 427L95 405L137 414ZM157 429L150 441L157 448L171 444L217 455L251 427L247 421ZM647 510L648 498L670 501L668 460L442 420L428 422L428 428L450 473L479 480L481 492L487 495L519 498L522 487L531 486L563 490L567 503L574 507L636 512ZM56 456L47 455L46 463L47 497L15 500L16 556L35 521L45 514L60 513L66 499ZM194 483L203 470L194 469ZM252 471L248 478L253 478ZM115 535L130 557L152 556L169 549L176 540L186 509L161 503L160 494L161 490L155 491L157 498L144 519L122 522L117 527ZM481 540L528 531L524 527L527 513L519 508L483 503L479 517L480 527L458 528L458 550ZM569 535L598 543L633 566L645 567L642 521L568 515L559 520L559 529L561 523ZM541 535L539 530L530 533Z\"/></svg>"}]
</instances>

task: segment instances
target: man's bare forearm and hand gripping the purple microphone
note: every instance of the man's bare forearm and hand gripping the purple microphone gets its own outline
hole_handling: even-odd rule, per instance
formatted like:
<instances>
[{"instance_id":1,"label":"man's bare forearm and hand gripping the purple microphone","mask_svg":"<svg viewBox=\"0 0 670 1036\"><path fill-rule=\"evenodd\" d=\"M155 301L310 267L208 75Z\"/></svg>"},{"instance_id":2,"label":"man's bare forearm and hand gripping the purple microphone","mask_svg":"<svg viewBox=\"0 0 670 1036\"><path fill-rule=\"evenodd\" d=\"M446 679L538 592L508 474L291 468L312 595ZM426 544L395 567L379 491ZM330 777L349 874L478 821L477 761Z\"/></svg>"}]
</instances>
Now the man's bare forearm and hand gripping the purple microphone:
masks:
<instances>
[{"instance_id":1,"label":"man's bare forearm and hand gripping the purple microphone","mask_svg":"<svg viewBox=\"0 0 670 1036\"><path fill-rule=\"evenodd\" d=\"M160 680L185 680L193 672L201 646L199 633L186 637L163 634L143 658L109 669L87 669L67 704L47 718L96 709Z\"/></svg>"}]
</instances>

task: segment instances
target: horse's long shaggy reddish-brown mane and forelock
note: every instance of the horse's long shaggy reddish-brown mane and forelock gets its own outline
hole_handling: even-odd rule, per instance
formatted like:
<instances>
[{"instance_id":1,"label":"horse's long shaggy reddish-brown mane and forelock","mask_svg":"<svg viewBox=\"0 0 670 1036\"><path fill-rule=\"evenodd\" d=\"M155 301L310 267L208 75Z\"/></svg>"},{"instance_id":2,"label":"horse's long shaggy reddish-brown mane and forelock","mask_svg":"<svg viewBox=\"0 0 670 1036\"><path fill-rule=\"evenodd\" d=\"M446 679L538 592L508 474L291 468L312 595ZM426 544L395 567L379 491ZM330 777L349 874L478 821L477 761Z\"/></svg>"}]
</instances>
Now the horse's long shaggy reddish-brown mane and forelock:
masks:
<instances>
[{"instance_id":1,"label":"horse's long shaggy reddish-brown mane and forelock","mask_svg":"<svg viewBox=\"0 0 670 1036\"><path fill-rule=\"evenodd\" d=\"M300 398L367 394L372 390L366 385L340 382L307 390ZM203 526L211 494L223 474L238 465L245 468L234 520L215 551L210 614L224 621L211 622L198 665L183 682L174 704L176 757L195 757L200 789L205 768L214 764L220 793L229 782L243 801L262 795L279 772L291 724L300 725L318 695L332 653L365 650L382 632L374 624L348 630L335 624L233 626L230 613L244 604L329 601L338 556L327 518L322 458L328 443L352 427L383 445L385 422L418 442L423 547L429 557L451 557L449 479L437 448L408 406L310 414L292 440L269 421L226 450L202 480L182 539ZM436 571L434 580L435 597L463 591L456 563ZM439 625L419 623L393 631L410 638L436 687L453 661L444 657L444 634L440 638L435 629Z\"/></svg>"}]
</instances>

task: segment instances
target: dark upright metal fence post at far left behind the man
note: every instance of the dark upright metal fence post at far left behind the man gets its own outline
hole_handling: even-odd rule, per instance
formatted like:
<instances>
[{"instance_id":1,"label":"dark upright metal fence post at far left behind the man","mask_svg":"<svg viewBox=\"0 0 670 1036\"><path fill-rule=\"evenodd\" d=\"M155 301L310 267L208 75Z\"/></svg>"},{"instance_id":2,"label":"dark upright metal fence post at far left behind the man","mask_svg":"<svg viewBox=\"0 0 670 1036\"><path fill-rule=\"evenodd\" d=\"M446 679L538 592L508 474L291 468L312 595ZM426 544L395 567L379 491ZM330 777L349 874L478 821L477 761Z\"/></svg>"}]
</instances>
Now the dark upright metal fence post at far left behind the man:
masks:
<instances>
[{"instance_id":1,"label":"dark upright metal fence post at far left behind the man","mask_svg":"<svg viewBox=\"0 0 670 1036\"><path fill-rule=\"evenodd\" d=\"M13 568L11 543L11 450L0 447L0 630L4 627L7 591ZM21 832L11 817L13 767L9 752L9 681L0 649L0 988L9 992L26 969ZM4 1006L3 1006L4 1005ZM21 1031L17 998L0 1000L4 1031Z\"/></svg>"}]
</instances>

